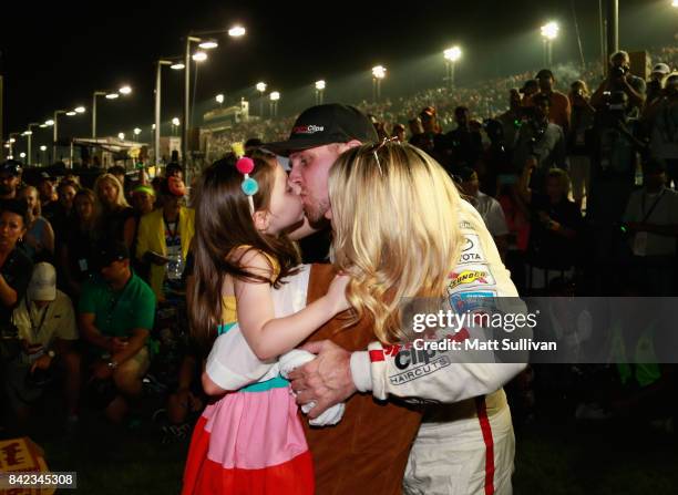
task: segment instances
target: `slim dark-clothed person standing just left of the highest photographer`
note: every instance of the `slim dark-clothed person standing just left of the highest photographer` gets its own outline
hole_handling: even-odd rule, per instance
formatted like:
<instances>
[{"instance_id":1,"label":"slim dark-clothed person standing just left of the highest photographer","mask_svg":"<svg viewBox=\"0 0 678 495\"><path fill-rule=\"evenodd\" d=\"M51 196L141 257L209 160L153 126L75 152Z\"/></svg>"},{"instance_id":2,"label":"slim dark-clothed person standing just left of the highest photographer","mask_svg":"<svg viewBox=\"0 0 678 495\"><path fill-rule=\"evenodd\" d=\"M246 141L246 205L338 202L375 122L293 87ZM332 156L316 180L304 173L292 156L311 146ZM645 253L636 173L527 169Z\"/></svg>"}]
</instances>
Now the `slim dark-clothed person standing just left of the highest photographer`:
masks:
<instances>
[{"instance_id":1,"label":"slim dark-clothed person standing just left of the highest photographer","mask_svg":"<svg viewBox=\"0 0 678 495\"><path fill-rule=\"evenodd\" d=\"M589 103L590 94L586 82L578 80L569 86L572 103L572 121L567 135L567 154L569 158L569 176L572 194L575 203L582 207L585 190L590 192L590 142L596 110Z\"/></svg>"}]
</instances>

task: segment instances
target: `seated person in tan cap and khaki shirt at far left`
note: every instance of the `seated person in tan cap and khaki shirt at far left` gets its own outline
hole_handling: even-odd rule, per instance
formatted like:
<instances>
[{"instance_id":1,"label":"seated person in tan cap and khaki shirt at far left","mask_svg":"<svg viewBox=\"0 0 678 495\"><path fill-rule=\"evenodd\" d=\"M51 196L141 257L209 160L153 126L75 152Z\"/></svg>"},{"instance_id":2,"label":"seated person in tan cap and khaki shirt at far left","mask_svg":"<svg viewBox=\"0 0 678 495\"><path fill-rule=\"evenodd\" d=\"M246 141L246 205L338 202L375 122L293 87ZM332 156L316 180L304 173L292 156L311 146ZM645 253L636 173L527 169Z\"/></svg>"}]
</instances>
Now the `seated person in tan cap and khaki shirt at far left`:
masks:
<instances>
[{"instance_id":1,"label":"seated person in tan cap and khaki shirt at far left","mask_svg":"<svg viewBox=\"0 0 678 495\"><path fill-rule=\"evenodd\" d=\"M12 382L8 396L17 414L24 417L30 404L40 398L55 372L63 377L63 398L68 424L78 422L80 399L80 354L75 313L71 299L56 289L56 270L47 262L35 265L25 297L14 309L24 352L8 375Z\"/></svg>"}]
</instances>

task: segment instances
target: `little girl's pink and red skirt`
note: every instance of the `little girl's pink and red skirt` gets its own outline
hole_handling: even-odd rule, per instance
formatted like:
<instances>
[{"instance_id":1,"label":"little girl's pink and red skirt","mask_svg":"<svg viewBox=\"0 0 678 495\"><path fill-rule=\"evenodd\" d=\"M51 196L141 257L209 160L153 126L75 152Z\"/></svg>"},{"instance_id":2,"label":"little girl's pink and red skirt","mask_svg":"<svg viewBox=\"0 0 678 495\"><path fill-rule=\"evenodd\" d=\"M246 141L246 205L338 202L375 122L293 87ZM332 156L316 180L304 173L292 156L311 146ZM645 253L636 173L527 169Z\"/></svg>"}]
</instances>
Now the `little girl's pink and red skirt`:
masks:
<instances>
[{"instance_id":1,"label":"little girl's pink and red skirt","mask_svg":"<svg viewBox=\"0 0 678 495\"><path fill-rule=\"evenodd\" d=\"M195 425L182 495L308 495L314 468L289 386L234 392Z\"/></svg>"}]
</instances>

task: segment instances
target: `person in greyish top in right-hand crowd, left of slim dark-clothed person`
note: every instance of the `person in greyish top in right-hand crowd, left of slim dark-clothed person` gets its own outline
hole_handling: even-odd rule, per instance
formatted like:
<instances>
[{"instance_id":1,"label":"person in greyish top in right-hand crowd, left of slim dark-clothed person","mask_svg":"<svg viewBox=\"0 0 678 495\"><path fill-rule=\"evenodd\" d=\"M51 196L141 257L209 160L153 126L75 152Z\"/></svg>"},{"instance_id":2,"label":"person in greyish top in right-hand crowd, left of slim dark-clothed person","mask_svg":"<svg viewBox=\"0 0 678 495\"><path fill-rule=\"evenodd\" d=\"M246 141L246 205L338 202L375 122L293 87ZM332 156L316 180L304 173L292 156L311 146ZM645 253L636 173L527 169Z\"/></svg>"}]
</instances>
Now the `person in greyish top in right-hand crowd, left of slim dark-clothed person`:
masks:
<instances>
[{"instance_id":1,"label":"person in greyish top in right-hand crowd, left of slim dark-clothed person","mask_svg":"<svg viewBox=\"0 0 678 495\"><path fill-rule=\"evenodd\" d=\"M548 122L551 102L544 94L533 96L534 106L523 110L525 120L518 131L513 155L516 171L523 171L527 163L536 162L531 187L543 192L549 168L567 169L565 134L559 125Z\"/></svg>"}]
</instances>

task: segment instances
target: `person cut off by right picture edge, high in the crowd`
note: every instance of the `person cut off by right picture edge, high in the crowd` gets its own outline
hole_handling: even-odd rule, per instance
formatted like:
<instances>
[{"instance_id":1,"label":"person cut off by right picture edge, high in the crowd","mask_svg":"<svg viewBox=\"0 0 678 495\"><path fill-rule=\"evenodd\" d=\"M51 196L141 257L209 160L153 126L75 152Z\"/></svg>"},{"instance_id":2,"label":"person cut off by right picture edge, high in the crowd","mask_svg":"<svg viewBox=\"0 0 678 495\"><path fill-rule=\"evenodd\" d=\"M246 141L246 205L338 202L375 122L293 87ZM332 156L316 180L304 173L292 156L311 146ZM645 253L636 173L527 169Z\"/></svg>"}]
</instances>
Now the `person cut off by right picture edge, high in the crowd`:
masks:
<instances>
[{"instance_id":1,"label":"person cut off by right picture edge, high in the crowd","mask_svg":"<svg viewBox=\"0 0 678 495\"><path fill-rule=\"evenodd\" d=\"M645 111L643 121L650 135L650 153L664 161L668 184L678 189L678 73L669 75L660 96Z\"/></svg>"}]
</instances>

